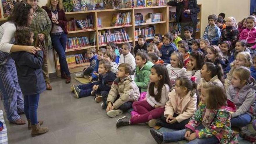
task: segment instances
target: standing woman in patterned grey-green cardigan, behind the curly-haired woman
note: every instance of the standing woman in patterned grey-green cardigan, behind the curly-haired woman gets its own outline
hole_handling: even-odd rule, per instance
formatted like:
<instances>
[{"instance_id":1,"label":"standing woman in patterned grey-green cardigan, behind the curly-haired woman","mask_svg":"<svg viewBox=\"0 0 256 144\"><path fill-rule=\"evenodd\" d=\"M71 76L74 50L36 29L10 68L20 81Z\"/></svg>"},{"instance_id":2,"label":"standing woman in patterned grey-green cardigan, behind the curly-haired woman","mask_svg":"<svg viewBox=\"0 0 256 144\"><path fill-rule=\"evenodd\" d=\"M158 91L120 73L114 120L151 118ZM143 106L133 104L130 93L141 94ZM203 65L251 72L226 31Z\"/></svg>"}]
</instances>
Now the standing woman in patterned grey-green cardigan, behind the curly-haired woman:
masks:
<instances>
[{"instance_id":1,"label":"standing woman in patterned grey-green cardigan, behind the curly-haired woman","mask_svg":"<svg viewBox=\"0 0 256 144\"><path fill-rule=\"evenodd\" d=\"M46 11L37 5L38 0L26 0L26 2L33 8L31 29L34 31L34 40L38 37L38 40L42 41L41 44L43 44L45 48L45 58L42 70L45 78L46 89L52 90L47 64L48 49L49 47L51 47L51 38L49 36L49 33L51 31L51 20L49 19Z\"/></svg>"}]
</instances>

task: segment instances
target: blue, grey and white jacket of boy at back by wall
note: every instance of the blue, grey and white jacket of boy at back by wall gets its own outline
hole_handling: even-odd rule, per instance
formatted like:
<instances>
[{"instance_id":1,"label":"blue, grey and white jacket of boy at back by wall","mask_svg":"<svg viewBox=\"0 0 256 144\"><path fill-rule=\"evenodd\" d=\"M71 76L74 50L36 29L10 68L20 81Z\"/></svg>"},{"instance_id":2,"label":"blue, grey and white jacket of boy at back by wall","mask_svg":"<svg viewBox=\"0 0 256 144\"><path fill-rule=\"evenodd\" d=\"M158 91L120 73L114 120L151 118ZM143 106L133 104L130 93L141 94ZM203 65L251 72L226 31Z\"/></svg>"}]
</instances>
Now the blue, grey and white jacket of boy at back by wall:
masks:
<instances>
[{"instance_id":1,"label":"blue, grey and white jacket of boy at back by wall","mask_svg":"<svg viewBox=\"0 0 256 144\"><path fill-rule=\"evenodd\" d=\"M212 34L212 33L209 33L209 31L208 31L210 27L211 27L210 25L206 26L203 38L208 39L211 42L211 45L217 45L218 40L221 36L221 30L215 24L214 25L215 33Z\"/></svg>"}]
</instances>

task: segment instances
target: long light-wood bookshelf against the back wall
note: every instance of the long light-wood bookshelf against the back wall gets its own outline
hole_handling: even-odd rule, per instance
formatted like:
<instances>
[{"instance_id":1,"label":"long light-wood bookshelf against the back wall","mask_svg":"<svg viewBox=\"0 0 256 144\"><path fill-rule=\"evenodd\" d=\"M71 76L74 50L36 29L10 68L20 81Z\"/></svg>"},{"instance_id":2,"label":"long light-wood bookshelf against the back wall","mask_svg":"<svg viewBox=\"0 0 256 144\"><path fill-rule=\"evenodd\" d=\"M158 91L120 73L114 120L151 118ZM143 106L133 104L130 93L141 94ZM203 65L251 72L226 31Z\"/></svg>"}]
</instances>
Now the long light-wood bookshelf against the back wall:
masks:
<instances>
[{"instance_id":1,"label":"long light-wood bookshelf against the back wall","mask_svg":"<svg viewBox=\"0 0 256 144\"><path fill-rule=\"evenodd\" d=\"M200 8L200 13L198 13L198 28L196 31L196 38L200 38L201 33L201 15L202 15L202 5L198 4ZM90 40L90 34L95 33L95 45L93 46L84 46L84 47L75 47L72 49L66 48L66 56L70 55L76 55L76 54L82 54L86 52L86 49L90 47L95 47L96 51L99 48L105 47L106 44L100 44L99 43L99 33L103 31L110 31L113 33L115 30L118 29L124 29L127 35L129 36L129 39L126 40L126 42L130 42L133 45L136 44L138 41L136 39L135 30L136 29L143 29L145 27L154 26L154 33L161 33L164 35L165 33L169 32L169 24L175 23L175 20L169 20L169 12L175 12L176 8L172 6L153 6L153 7L135 7L135 8L122 8L119 10L115 9L106 9L106 10L88 10L88 11L79 11L79 12L66 12L65 15L67 17L67 20L83 20L88 18L89 16L93 19L93 27L89 29L79 29L79 26L77 24L74 24L75 28L73 31L68 31L68 38L71 37L87 37ZM114 13L130 13L130 23L123 26L111 26L112 22L112 16ZM149 13L161 13L161 21L157 22L147 22L147 23L140 23L136 24L135 16L137 13L141 13L143 15L143 20L147 19L149 17ZM98 27L98 18L101 19L101 27ZM6 22L6 18L0 19L0 24L3 24ZM146 38L146 41L152 41L153 36L149 36ZM115 42L116 45L119 47L124 42ZM61 75L60 67L57 63L58 55L56 51L54 51L54 60L55 60L55 68L56 68L56 74L57 76ZM79 64L72 64L68 65L68 68L70 70L70 73L80 72L83 71L83 69L87 66L89 66L89 62L85 63L79 63Z\"/></svg>"}]
</instances>

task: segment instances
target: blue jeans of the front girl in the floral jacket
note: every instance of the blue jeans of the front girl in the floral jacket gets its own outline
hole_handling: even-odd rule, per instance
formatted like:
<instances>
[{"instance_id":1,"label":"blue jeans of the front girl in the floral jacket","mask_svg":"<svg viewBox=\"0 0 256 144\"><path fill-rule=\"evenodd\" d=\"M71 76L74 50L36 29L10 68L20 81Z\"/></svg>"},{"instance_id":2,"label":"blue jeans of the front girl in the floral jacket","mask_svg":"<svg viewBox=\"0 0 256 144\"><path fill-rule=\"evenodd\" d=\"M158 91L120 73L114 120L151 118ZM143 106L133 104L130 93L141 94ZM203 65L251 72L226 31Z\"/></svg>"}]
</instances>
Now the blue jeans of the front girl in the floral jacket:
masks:
<instances>
[{"instance_id":1,"label":"blue jeans of the front girl in the floral jacket","mask_svg":"<svg viewBox=\"0 0 256 144\"><path fill-rule=\"evenodd\" d=\"M196 129L203 129L205 128L203 125L199 125ZM163 141L165 142L173 142L173 141L181 141L184 140L184 136L186 133L186 129L182 129L179 131L172 131L172 132L163 132ZM189 144L216 144L219 143L219 140L212 136L210 138L195 138L192 141L188 142Z\"/></svg>"}]
</instances>

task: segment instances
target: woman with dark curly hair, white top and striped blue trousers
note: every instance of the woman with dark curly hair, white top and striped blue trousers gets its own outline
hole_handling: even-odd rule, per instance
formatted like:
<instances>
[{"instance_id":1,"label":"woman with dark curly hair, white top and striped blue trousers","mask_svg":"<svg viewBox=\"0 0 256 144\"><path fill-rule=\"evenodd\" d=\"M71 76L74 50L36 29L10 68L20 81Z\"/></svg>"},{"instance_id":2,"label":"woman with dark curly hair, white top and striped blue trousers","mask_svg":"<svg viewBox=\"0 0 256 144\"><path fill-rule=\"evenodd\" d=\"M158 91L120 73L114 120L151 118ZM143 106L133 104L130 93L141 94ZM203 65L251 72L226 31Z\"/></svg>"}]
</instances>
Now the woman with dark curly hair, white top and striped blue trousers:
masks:
<instances>
[{"instance_id":1,"label":"woman with dark curly hair, white top and striped blue trousers","mask_svg":"<svg viewBox=\"0 0 256 144\"><path fill-rule=\"evenodd\" d=\"M24 113L24 101L19 87L17 71L11 52L27 51L35 54L40 50L33 46L13 45L17 26L30 26L33 9L26 3L17 3L7 22L0 26L0 97L8 120L17 125L24 125L19 114Z\"/></svg>"}]
</instances>

